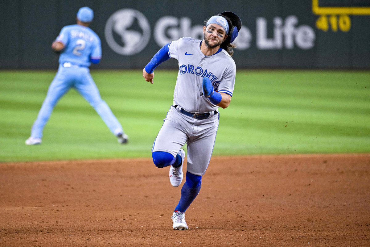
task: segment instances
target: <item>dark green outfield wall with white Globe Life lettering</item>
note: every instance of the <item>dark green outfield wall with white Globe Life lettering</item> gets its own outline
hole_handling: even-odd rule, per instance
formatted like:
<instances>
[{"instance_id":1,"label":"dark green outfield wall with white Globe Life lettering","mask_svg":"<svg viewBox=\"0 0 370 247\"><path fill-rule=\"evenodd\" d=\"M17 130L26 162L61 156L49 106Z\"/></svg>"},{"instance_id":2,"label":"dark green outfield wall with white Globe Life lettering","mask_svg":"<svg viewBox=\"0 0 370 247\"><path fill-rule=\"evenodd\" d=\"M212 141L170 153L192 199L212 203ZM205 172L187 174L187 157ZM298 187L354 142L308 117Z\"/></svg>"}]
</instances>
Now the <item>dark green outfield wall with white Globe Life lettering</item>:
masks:
<instances>
[{"instance_id":1,"label":"dark green outfield wall with white Globe Life lettering","mask_svg":"<svg viewBox=\"0 0 370 247\"><path fill-rule=\"evenodd\" d=\"M370 0L16 0L0 4L0 69L56 69L51 43L89 6L103 57L94 68L141 69L164 44L202 39L203 21L232 11L243 26L238 68L369 69ZM176 69L175 60L161 68Z\"/></svg>"}]
</instances>

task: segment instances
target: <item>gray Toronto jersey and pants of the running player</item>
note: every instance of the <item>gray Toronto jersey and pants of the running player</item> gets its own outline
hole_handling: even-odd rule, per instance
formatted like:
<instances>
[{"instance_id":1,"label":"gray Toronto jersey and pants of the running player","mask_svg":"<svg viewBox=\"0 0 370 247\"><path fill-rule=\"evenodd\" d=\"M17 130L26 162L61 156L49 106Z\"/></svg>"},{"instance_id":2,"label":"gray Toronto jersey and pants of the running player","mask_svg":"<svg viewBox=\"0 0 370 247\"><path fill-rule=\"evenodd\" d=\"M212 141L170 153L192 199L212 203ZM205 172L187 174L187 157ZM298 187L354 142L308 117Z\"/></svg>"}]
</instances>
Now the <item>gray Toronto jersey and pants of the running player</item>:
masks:
<instances>
[{"instance_id":1,"label":"gray Toronto jersey and pants of the running player","mask_svg":"<svg viewBox=\"0 0 370 247\"><path fill-rule=\"evenodd\" d=\"M179 62L174 92L174 106L179 107L171 106L152 148L152 152L164 151L175 157L187 143L186 170L198 176L208 168L219 123L219 114L214 113L218 106L202 96L203 77L208 77L218 92L232 96L236 73L235 62L225 50L204 56L200 44L201 40L188 37L169 44L169 56ZM181 108L191 113L210 112L210 117L198 120L180 113Z\"/></svg>"}]
</instances>

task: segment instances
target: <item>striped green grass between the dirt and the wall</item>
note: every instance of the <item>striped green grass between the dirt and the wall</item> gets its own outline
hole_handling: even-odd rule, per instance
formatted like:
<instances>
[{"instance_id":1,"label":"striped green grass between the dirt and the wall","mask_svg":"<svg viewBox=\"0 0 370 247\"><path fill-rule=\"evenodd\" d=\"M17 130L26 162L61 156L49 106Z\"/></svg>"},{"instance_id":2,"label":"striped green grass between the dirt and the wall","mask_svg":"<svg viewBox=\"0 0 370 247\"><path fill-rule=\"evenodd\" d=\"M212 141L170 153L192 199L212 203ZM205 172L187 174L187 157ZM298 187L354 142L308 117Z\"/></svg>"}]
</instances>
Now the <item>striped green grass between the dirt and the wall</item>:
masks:
<instances>
[{"instance_id":1,"label":"striped green grass between the dirt and the wall","mask_svg":"<svg viewBox=\"0 0 370 247\"><path fill-rule=\"evenodd\" d=\"M43 143L26 146L56 71L0 71L0 161L151 157L177 71L92 71L129 135L120 145L76 91L57 104ZM239 70L220 109L214 156L370 152L370 72Z\"/></svg>"}]
</instances>

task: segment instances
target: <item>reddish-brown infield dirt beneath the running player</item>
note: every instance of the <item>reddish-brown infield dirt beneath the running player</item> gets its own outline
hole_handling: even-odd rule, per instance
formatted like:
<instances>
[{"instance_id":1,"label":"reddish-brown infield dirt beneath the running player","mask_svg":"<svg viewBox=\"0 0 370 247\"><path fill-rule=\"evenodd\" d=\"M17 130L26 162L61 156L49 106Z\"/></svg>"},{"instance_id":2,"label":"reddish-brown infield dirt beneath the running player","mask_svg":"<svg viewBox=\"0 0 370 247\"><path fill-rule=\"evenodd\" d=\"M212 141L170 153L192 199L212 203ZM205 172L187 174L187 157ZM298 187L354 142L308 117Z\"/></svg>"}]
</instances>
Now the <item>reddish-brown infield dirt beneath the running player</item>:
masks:
<instances>
[{"instance_id":1,"label":"reddish-brown infield dirt beneath the running player","mask_svg":"<svg viewBox=\"0 0 370 247\"><path fill-rule=\"evenodd\" d=\"M188 231L181 186L150 159L0 163L0 246L370 246L370 154L212 157Z\"/></svg>"}]
</instances>

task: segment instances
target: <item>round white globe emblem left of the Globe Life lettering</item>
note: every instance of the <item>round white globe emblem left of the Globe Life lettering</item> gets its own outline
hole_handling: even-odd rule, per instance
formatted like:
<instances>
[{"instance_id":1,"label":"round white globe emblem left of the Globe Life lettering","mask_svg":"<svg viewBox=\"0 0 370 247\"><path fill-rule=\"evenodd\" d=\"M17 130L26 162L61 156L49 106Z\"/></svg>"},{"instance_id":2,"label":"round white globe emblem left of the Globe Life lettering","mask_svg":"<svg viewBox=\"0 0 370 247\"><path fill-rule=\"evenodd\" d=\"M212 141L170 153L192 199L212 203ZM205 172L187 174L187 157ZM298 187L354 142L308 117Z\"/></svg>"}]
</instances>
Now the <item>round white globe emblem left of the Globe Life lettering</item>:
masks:
<instances>
[{"instance_id":1,"label":"round white globe emblem left of the Globe Life lettering","mask_svg":"<svg viewBox=\"0 0 370 247\"><path fill-rule=\"evenodd\" d=\"M134 9L121 9L113 13L105 24L108 46L118 54L130 56L142 51L150 39L147 18Z\"/></svg>"}]
</instances>

